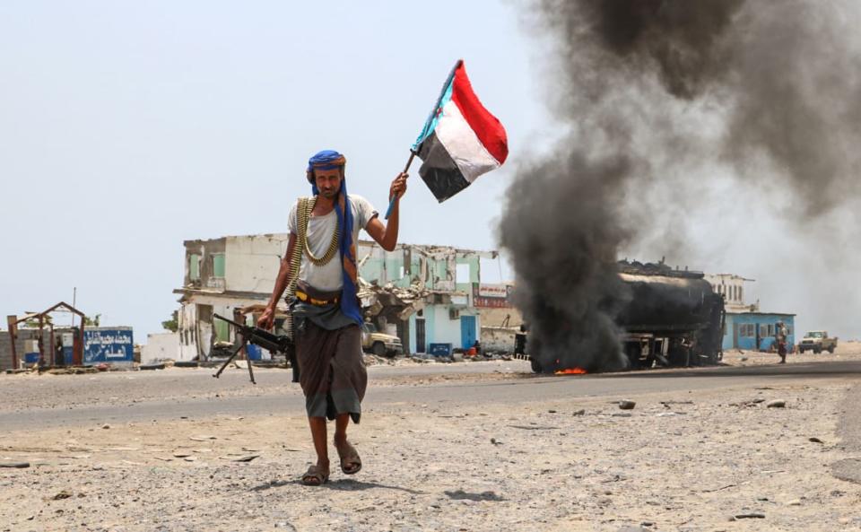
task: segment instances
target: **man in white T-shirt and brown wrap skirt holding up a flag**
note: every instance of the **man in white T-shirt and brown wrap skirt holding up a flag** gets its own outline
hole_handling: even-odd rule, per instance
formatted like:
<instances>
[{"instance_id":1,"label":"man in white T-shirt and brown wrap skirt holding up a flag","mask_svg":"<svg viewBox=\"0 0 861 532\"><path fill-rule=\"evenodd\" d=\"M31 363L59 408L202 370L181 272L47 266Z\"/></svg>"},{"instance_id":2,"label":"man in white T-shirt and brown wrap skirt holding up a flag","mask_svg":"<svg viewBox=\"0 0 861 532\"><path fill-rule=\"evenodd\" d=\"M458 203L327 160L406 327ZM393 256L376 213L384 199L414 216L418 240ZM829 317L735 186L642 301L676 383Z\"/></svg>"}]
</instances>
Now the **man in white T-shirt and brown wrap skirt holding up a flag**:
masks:
<instances>
[{"instance_id":1,"label":"man in white T-shirt and brown wrap skirt holding up a flag","mask_svg":"<svg viewBox=\"0 0 861 532\"><path fill-rule=\"evenodd\" d=\"M389 198L396 197L388 224L361 196L348 195L346 159L332 150L310 158L306 177L312 197L293 205L290 240L281 262L272 298L257 325L271 328L275 306L296 272L294 250L300 253L299 278L291 304L296 332L296 358L305 408L317 452L317 463L302 475L302 484L325 484L329 478L326 418L335 420L335 449L346 475L361 469L359 453L347 440L347 426L359 423L361 400L368 385L361 353L361 305L356 295L356 241L364 229L387 251L395 249L398 203L406 192L407 174L392 181ZM291 294L288 294L290 297Z\"/></svg>"}]
</instances>

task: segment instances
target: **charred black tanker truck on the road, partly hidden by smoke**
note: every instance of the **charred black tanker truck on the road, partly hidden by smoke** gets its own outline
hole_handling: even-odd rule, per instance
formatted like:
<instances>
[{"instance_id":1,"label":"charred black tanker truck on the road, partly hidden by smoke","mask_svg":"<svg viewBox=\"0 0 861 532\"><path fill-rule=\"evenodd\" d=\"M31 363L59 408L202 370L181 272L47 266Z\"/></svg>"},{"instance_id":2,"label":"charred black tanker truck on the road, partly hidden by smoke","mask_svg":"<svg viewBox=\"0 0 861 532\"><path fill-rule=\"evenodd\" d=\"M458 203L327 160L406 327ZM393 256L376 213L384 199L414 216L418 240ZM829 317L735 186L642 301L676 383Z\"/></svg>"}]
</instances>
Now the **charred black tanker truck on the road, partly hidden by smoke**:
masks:
<instances>
[{"instance_id":1,"label":"charred black tanker truck on the road, partly hidden by smoke","mask_svg":"<svg viewBox=\"0 0 861 532\"><path fill-rule=\"evenodd\" d=\"M709 365L723 356L723 296L700 272L674 270L663 263L620 261L619 275L631 300L616 317L622 353L632 369ZM528 335L518 338L516 351L529 353ZM559 361L544 367L529 357L532 370L570 371Z\"/></svg>"}]
</instances>

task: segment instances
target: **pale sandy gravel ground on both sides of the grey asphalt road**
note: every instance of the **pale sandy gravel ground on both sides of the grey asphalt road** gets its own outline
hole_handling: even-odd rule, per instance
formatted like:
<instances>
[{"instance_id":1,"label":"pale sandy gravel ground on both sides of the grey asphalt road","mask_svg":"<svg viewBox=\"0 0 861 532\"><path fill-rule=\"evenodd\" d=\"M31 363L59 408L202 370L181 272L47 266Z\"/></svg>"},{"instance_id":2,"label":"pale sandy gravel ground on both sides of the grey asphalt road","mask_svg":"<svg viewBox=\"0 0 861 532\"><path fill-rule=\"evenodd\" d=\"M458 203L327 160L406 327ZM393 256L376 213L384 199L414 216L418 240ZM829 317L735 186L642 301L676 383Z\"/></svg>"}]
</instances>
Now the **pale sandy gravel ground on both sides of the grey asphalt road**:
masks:
<instances>
[{"instance_id":1,"label":"pale sandy gravel ground on both sides of the grey asphalt road","mask_svg":"<svg viewBox=\"0 0 861 532\"><path fill-rule=\"evenodd\" d=\"M857 359L861 349L789 362L808 357ZM727 353L725 362L776 359ZM32 379L44 394L60 378L6 379ZM0 463L31 466L0 468L0 530L861 530L861 485L831 475L858 458L839 439L847 392L845 381L820 379L641 394L624 397L636 401L624 411L566 397L370 409L351 431L363 470L334 471L322 488L297 482L310 454L297 416L4 432Z\"/></svg>"}]
</instances>

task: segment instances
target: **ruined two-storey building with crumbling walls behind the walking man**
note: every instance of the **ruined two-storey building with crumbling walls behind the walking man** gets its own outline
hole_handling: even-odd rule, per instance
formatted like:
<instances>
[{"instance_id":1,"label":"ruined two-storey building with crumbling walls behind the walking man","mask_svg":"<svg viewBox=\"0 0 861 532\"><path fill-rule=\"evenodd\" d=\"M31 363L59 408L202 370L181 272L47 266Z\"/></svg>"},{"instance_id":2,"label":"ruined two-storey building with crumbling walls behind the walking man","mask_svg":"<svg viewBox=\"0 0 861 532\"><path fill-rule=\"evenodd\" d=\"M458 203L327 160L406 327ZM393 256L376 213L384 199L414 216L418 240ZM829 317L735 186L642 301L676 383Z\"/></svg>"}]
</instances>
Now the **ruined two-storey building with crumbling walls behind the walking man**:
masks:
<instances>
[{"instance_id":1,"label":"ruined two-storey building with crumbling walls behind the walking man","mask_svg":"<svg viewBox=\"0 0 861 532\"><path fill-rule=\"evenodd\" d=\"M271 296L288 233L228 236L184 242L185 272L178 312L178 360L206 359L230 343L230 327L213 314L248 320ZM483 317L508 326L509 289L481 282L481 260L495 251L398 244L386 251L357 243L359 296L366 321L398 336L406 353L467 349L482 338ZM284 301L276 332L289 327ZM512 333L513 335L513 333Z\"/></svg>"}]
</instances>

